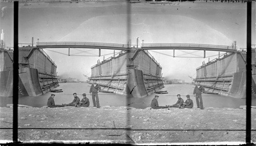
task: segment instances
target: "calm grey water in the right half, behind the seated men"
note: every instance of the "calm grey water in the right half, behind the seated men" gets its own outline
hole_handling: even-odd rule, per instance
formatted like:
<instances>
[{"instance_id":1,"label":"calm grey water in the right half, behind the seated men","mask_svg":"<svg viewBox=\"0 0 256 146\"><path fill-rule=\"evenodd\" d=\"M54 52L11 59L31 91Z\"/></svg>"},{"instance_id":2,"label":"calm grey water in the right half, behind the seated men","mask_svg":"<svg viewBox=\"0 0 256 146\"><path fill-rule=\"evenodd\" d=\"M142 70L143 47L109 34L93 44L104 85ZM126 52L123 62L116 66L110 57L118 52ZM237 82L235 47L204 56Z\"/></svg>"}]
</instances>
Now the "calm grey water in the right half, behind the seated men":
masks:
<instances>
[{"instance_id":1,"label":"calm grey water in the right half, behind the seated men","mask_svg":"<svg viewBox=\"0 0 256 146\"><path fill-rule=\"evenodd\" d=\"M194 107L197 107L196 98L193 95L194 85L164 85L168 94L159 95L159 106L173 105L177 102L177 94L181 94L181 98L185 101L186 95L190 95L190 99L193 100ZM150 106L152 99L156 94L152 94L147 98L131 99L131 106L136 108L146 108ZM246 105L245 99L230 98L227 96L215 95L215 94L202 94L204 107L216 107L216 108L239 108L241 105ZM256 99L252 99L252 105L256 105Z\"/></svg>"}]
</instances>

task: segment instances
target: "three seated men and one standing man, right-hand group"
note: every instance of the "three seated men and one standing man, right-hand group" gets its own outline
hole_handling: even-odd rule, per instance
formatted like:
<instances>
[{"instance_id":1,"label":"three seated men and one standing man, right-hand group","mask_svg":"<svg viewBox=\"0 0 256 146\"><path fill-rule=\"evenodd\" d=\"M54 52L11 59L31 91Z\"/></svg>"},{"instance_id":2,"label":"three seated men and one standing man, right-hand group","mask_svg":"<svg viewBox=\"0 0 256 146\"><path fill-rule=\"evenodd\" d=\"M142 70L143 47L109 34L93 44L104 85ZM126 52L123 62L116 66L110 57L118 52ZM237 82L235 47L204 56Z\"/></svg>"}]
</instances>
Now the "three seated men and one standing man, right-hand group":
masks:
<instances>
[{"instance_id":1,"label":"three seated men and one standing man, right-hand group","mask_svg":"<svg viewBox=\"0 0 256 146\"><path fill-rule=\"evenodd\" d=\"M197 108L204 109L203 107L203 100L202 100L202 93L204 92L204 87L200 85L200 82L197 82L196 87L194 88L194 96L196 97L197 101ZM184 102L184 100L180 97L180 94L177 95L178 101L176 104L171 105L171 106L159 106L158 105L158 95L155 95L155 98L151 102L151 107L153 109L161 109L161 108L169 108L169 107L174 107L174 108L193 108L194 104L193 101L190 99L189 95L186 95L187 100Z\"/></svg>"}]
</instances>

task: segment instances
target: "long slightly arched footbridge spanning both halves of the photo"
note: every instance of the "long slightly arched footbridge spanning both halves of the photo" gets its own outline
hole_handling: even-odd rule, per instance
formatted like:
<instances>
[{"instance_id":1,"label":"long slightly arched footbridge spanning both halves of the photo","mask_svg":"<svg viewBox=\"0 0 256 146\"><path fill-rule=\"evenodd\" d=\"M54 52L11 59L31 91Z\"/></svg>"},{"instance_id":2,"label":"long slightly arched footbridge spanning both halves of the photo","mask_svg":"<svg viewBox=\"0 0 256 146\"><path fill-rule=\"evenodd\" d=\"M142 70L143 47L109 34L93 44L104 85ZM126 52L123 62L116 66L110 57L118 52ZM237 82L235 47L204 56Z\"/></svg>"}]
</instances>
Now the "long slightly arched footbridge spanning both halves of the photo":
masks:
<instances>
[{"instance_id":1,"label":"long slightly arched footbridge spanning both halves of the photo","mask_svg":"<svg viewBox=\"0 0 256 146\"><path fill-rule=\"evenodd\" d=\"M235 46L227 45L212 45L212 44L191 44L191 43L144 43L140 47L138 45L129 44L116 44L116 43L98 43L98 42L37 42L37 48L91 48L98 49L99 56L100 50L120 50L120 51L131 51L133 48L138 50L198 50L204 51L218 51L218 52L237 52ZM63 54L63 53L62 53ZM190 53L187 53L190 54ZM174 56L173 56L174 57Z\"/></svg>"}]
</instances>

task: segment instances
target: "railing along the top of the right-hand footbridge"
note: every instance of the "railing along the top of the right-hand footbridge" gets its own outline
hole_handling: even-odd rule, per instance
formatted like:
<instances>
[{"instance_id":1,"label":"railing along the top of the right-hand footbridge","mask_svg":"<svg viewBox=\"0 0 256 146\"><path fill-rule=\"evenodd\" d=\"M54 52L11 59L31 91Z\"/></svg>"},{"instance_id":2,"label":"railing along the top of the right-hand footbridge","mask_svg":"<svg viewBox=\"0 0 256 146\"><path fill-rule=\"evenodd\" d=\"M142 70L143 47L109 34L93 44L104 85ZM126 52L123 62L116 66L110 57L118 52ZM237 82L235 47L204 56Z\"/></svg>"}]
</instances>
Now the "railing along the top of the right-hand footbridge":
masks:
<instances>
[{"instance_id":1,"label":"railing along the top of the right-hand footbridge","mask_svg":"<svg viewBox=\"0 0 256 146\"><path fill-rule=\"evenodd\" d=\"M192 43L144 43L143 47L201 47L201 48L223 48L223 49L234 50L234 46L212 45L212 44L192 44Z\"/></svg>"}]
</instances>

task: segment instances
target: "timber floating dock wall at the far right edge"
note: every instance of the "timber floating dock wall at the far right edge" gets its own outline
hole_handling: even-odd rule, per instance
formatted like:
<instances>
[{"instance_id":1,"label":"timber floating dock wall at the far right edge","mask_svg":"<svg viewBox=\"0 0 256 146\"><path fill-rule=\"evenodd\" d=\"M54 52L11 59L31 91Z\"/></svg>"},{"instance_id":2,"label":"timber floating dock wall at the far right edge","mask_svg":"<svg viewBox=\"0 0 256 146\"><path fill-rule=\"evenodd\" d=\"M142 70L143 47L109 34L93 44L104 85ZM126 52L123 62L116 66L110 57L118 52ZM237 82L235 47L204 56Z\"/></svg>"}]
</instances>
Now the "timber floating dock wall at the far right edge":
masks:
<instances>
[{"instance_id":1,"label":"timber floating dock wall at the far right edge","mask_svg":"<svg viewBox=\"0 0 256 146\"><path fill-rule=\"evenodd\" d=\"M252 49L253 50L253 49ZM256 58L252 51L252 96L256 97ZM206 93L246 98L246 52L227 53L197 69L195 81L201 81Z\"/></svg>"}]
</instances>

